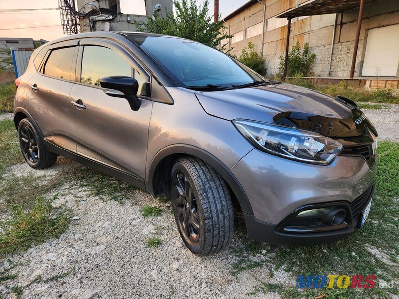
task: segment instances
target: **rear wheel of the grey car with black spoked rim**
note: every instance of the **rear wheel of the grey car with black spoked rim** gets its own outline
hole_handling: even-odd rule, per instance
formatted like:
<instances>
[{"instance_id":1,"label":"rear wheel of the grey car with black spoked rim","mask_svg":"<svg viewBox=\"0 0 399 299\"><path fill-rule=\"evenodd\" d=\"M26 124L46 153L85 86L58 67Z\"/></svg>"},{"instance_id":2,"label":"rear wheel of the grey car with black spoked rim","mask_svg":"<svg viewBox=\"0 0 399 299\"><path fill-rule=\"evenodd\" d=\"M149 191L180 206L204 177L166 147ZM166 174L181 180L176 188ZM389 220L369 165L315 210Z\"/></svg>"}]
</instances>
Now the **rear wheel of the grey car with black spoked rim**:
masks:
<instances>
[{"instance_id":1,"label":"rear wheel of the grey car with black spoked rim","mask_svg":"<svg viewBox=\"0 0 399 299\"><path fill-rule=\"evenodd\" d=\"M22 155L30 167L44 169L57 161L57 155L47 151L39 130L28 118L19 122L18 139Z\"/></svg>"}]
</instances>

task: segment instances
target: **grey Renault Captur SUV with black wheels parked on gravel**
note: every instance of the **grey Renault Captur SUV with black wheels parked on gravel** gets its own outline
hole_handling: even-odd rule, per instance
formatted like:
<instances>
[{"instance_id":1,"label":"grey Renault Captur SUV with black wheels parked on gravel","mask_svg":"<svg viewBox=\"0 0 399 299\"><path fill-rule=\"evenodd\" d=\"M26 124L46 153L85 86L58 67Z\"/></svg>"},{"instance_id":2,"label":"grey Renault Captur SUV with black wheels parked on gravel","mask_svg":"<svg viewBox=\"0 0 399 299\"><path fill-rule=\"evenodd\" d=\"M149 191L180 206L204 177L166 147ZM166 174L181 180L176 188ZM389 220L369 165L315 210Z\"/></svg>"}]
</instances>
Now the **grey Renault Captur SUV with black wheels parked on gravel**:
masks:
<instances>
[{"instance_id":1,"label":"grey Renault Captur SUV with black wheels parked on gravel","mask_svg":"<svg viewBox=\"0 0 399 299\"><path fill-rule=\"evenodd\" d=\"M200 43L68 36L35 50L16 84L32 168L61 155L170 197L197 255L230 243L234 204L248 236L272 245L345 238L370 210L377 132L354 102L267 80Z\"/></svg>"}]
</instances>

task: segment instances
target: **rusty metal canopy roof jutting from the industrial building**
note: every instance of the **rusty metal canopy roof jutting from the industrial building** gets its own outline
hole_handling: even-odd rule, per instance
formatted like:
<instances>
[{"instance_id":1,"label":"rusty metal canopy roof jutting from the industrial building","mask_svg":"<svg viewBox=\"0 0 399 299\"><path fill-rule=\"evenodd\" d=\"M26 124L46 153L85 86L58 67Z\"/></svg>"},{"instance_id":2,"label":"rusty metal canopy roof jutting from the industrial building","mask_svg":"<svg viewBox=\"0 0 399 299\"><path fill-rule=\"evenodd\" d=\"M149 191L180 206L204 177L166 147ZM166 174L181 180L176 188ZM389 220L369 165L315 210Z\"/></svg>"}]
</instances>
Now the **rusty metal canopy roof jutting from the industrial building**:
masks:
<instances>
[{"instance_id":1,"label":"rusty metal canopy roof jutting from the industrial building","mask_svg":"<svg viewBox=\"0 0 399 299\"><path fill-rule=\"evenodd\" d=\"M364 0L369 5L380 0ZM289 9L277 15L279 18L294 18L298 16L340 13L359 8L361 0L310 0L298 7Z\"/></svg>"}]
</instances>

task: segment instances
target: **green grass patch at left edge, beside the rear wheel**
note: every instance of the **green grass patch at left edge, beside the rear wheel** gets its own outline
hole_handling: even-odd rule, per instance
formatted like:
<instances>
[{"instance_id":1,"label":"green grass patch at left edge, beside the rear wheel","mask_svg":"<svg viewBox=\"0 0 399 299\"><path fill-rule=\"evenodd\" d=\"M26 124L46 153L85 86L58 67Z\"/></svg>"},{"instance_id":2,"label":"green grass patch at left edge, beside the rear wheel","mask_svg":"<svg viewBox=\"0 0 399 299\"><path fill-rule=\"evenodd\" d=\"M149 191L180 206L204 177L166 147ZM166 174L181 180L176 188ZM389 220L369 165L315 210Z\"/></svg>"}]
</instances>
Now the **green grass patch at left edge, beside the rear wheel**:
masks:
<instances>
[{"instance_id":1,"label":"green grass patch at left edge, beside the rear wheel","mask_svg":"<svg viewBox=\"0 0 399 299\"><path fill-rule=\"evenodd\" d=\"M11 120L0 121L0 178L5 167L22 162L18 133Z\"/></svg>"}]
</instances>

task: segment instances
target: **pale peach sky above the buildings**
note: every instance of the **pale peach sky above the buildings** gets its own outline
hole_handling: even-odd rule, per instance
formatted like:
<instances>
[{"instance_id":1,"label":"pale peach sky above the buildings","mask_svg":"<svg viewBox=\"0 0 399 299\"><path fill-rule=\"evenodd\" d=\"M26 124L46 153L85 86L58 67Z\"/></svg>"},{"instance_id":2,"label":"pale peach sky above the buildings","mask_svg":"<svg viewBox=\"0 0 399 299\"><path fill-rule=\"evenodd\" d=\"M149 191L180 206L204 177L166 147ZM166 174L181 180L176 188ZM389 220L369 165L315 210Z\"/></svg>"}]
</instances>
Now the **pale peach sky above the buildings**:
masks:
<instances>
[{"instance_id":1,"label":"pale peach sky above the buildings","mask_svg":"<svg viewBox=\"0 0 399 299\"><path fill-rule=\"evenodd\" d=\"M204 0L197 0L202 4ZM209 14L213 14L213 0L209 0ZM247 0L219 0L223 17L246 3ZM120 0L125 14L145 14L144 0ZM56 8L58 0L0 0L0 37L27 37L53 40L63 36L60 14L57 10L4 12L4 9ZM51 27L42 27L51 26ZM31 29L15 29L37 27ZM41 28L40 28L41 27ZM11 30L8 30L11 29Z\"/></svg>"}]
</instances>

